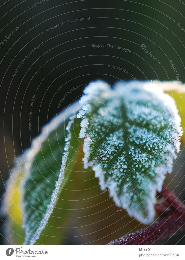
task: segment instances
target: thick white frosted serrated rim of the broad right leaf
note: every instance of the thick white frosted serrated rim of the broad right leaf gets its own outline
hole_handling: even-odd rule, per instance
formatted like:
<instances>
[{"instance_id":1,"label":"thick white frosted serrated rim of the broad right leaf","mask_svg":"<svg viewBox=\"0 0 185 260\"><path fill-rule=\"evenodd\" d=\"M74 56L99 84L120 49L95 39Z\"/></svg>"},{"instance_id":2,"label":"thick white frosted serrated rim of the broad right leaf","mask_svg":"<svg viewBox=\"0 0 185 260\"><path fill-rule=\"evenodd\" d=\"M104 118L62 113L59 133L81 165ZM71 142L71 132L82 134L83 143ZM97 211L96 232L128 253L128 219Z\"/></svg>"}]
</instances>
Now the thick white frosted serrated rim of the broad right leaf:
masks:
<instances>
[{"instance_id":1,"label":"thick white frosted serrated rim of the broad right leaf","mask_svg":"<svg viewBox=\"0 0 185 260\"><path fill-rule=\"evenodd\" d=\"M134 81L129 82L129 86L135 86ZM174 136L174 145L175 148L174 152L167 158L168 160L168 170L169 173L172 171L173 167L173 159L176 159L178 153L180 151L180 137L182 136L182 128L180 127L180 116L178 115L178 110L176 108L174 100L168 95L165 94L161 88L161 86L158 86L156 83L148 83L146 81L141 82L142 83L142 88L145 89L146 91L154 92L157 94L158 98L164 100L169 104L171 107L171 110L173 111L175 115L175 129L173 131L173 136ZM116 89L120 91L120 85L122 83L116 84ZM162 83L161 83L162 84ZM101 164L98 164L94 161L89 161L89 156L90 156L90 143L91 143L91 138L87 135L86 130L88 127L88 119L86 118L86 113L88 112L89 109L89 104L88 101L91 100L91 95L94 92L100 92L101 91L110 91L109 85L104 82L104 81L95 81L91 82L87 88L84 91L85 96L83 96L80 100L80 104L82 105L82 109L79 111L77 114L77 117L81 118L82 121L80 123L81 125L81 130L80 130L80 135L79 138L84 138L84 145L83 145L83 151L84 151L84 168L88 168L89 166L92 167L92 169L95 172L95 177L99 178L99 184L101 187L101 190L105 190L106 187L109 188L109 197L112 197L113 201L116 203L118 207L124 207L126 211L128 212L130 217L136 218L138 221L140 221L143 224L151 224L154 220L155 217L155 209L154 209L154 202L155 202L155 196L156 196L156 191L160 192L162 189L162 184L165 179L166 175L166 170L163 171L160 175L157 175L156 177L156 182L158 183L158 186L156 187L155 185L150 184L149 190L150 190L150 195L147 197L147 212L148 212L148 218L144 219L141 212L137 211L137 209L130 210L128 206L126 206L126 202L128 201L126 197L125 199L122 199L122 203L120 202L120 199L118 197L118 194L116 190L114 190L112 187L116 185L116 183L112 180L111 182L107 183L105 182L104 174L105 172L101 169ZM125 203L124 203L125 201ZM139 206L139 205L138 205Z\"/></svg>"}]
</instances>

